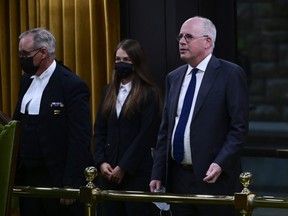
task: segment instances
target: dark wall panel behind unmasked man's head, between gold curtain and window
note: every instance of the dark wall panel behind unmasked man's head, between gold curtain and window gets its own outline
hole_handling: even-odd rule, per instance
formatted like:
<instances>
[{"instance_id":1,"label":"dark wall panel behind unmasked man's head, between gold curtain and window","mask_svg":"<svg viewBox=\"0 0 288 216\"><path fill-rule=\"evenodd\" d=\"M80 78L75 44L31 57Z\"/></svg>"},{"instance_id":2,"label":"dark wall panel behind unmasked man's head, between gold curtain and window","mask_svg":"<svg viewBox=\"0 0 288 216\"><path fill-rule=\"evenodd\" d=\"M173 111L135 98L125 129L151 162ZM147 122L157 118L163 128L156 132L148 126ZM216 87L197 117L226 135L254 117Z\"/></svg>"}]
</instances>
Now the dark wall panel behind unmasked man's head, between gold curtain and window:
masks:
<instances>
[{"instance_id":1,"label":"dark wall panel behind unmasked man's head, between gold curtain and window","mask_svg":"<svg viewBox=\"0 0 288 216\"><path fill-rule=\"evenodd\" d=\"M214 54L236 59L236 3L234 0L121 0L121 39L133 38L144 48L156 83L164 90L166 74L184 64L176 36L182 23L204 16L217 28Z\"/></svg>"}]
</instances>

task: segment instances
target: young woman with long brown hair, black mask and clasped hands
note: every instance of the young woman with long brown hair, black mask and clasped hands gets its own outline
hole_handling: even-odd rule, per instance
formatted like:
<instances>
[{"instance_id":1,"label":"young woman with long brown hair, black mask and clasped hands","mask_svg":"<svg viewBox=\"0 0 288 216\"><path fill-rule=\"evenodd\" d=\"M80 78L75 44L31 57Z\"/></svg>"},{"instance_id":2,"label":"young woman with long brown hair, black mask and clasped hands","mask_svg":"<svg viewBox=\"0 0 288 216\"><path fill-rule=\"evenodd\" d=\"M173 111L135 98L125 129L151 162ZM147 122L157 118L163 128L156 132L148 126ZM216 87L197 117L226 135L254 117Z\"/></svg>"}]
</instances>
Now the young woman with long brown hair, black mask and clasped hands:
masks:
<instances>
[{"instance_id":1,"label":"young woman with long brown hair, black mask and clasped hands","mask_svg":"<svg viewBox=\"0 0 288 216\"><path fill-rule=\"evenodd\" d=\"M161 109L140 44L131 39L120 42L112 82L105 88L94 125L95 164L104 189L149 191L151 148L156 144ZM151 208L149 203L103 203L107 216L147 216Z\"/></svg>"}]
</instances>

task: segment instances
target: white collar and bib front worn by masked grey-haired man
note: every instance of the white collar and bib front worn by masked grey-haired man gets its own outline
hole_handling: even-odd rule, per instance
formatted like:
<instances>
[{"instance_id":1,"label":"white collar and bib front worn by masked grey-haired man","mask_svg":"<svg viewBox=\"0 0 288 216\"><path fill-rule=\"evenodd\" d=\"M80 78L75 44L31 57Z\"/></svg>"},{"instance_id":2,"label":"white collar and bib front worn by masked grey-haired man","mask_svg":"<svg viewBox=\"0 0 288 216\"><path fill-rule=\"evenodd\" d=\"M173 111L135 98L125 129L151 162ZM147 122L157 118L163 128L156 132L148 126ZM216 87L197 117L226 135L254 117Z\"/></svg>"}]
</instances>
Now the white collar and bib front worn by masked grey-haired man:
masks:
<instances>
[{"instance_id":1,"label":"white collar and bib front worn by masked grey-haired man","mask_svg":"<svg viewBox=\"0 0 288 216\"><path fill-rule=\"evenodd\" d=\"M54 60L53 63L47 68L47 70L44 71L40 76L31 76L31 79L33 79L33 81L22 99L20 109L21 113L24 114L26 111L26 113L28 113L29 115L39 115L43 91L55 68L56 62Z\"/></svg>"}]
</instances>

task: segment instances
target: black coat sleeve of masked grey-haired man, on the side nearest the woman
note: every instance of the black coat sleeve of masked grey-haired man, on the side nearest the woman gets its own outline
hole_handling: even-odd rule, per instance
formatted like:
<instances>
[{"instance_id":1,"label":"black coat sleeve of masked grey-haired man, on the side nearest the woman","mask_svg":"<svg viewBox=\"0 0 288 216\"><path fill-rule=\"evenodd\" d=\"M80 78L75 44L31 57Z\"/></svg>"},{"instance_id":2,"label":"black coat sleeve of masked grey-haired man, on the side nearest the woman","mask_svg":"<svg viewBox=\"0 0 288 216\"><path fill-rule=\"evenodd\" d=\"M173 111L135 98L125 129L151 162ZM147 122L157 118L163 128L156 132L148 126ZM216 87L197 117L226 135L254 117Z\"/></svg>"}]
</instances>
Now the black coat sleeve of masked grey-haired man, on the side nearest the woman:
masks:
<instances>
[{"instance_id":1,"label":"black coat sleeve of masked grey-haired man, on the side nearest the woman","mask_svg":"<svg viewBox=\"0 0 288 216\"><path fill-rule=\"evenodd\" d=\"M83 184L84 170L92 164L90 92L83 81L74 77L66 80L64 91L68 136L64 185L69 186Z\"/></svg>"}]
</instances>

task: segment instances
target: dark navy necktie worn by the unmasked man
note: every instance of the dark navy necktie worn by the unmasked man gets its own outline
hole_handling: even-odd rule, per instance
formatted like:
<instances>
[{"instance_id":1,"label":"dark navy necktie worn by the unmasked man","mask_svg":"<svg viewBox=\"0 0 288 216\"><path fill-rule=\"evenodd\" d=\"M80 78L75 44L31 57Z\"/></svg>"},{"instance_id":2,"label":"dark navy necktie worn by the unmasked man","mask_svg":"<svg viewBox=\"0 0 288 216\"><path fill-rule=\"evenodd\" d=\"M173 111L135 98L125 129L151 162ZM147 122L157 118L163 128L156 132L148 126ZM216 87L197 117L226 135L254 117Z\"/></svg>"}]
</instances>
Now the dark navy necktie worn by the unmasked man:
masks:
<instances>
[{"instance_id":1,"label":"dark navy necktie worn by the unmasked man","mask_svg":"<svg viewBox=\"0 0 288 216\"><path fill-rule=\"evenodd\" d=\"M175 130L174 141L173 141L173 157L174 160L180 164L184 156L184 132L186 124L189 118L191 105L193 101L195 86L196 86L196 73L198 72L197 68L192 69L192 77L187 88L180 118Z\"/></svg>"}]
</instances>

